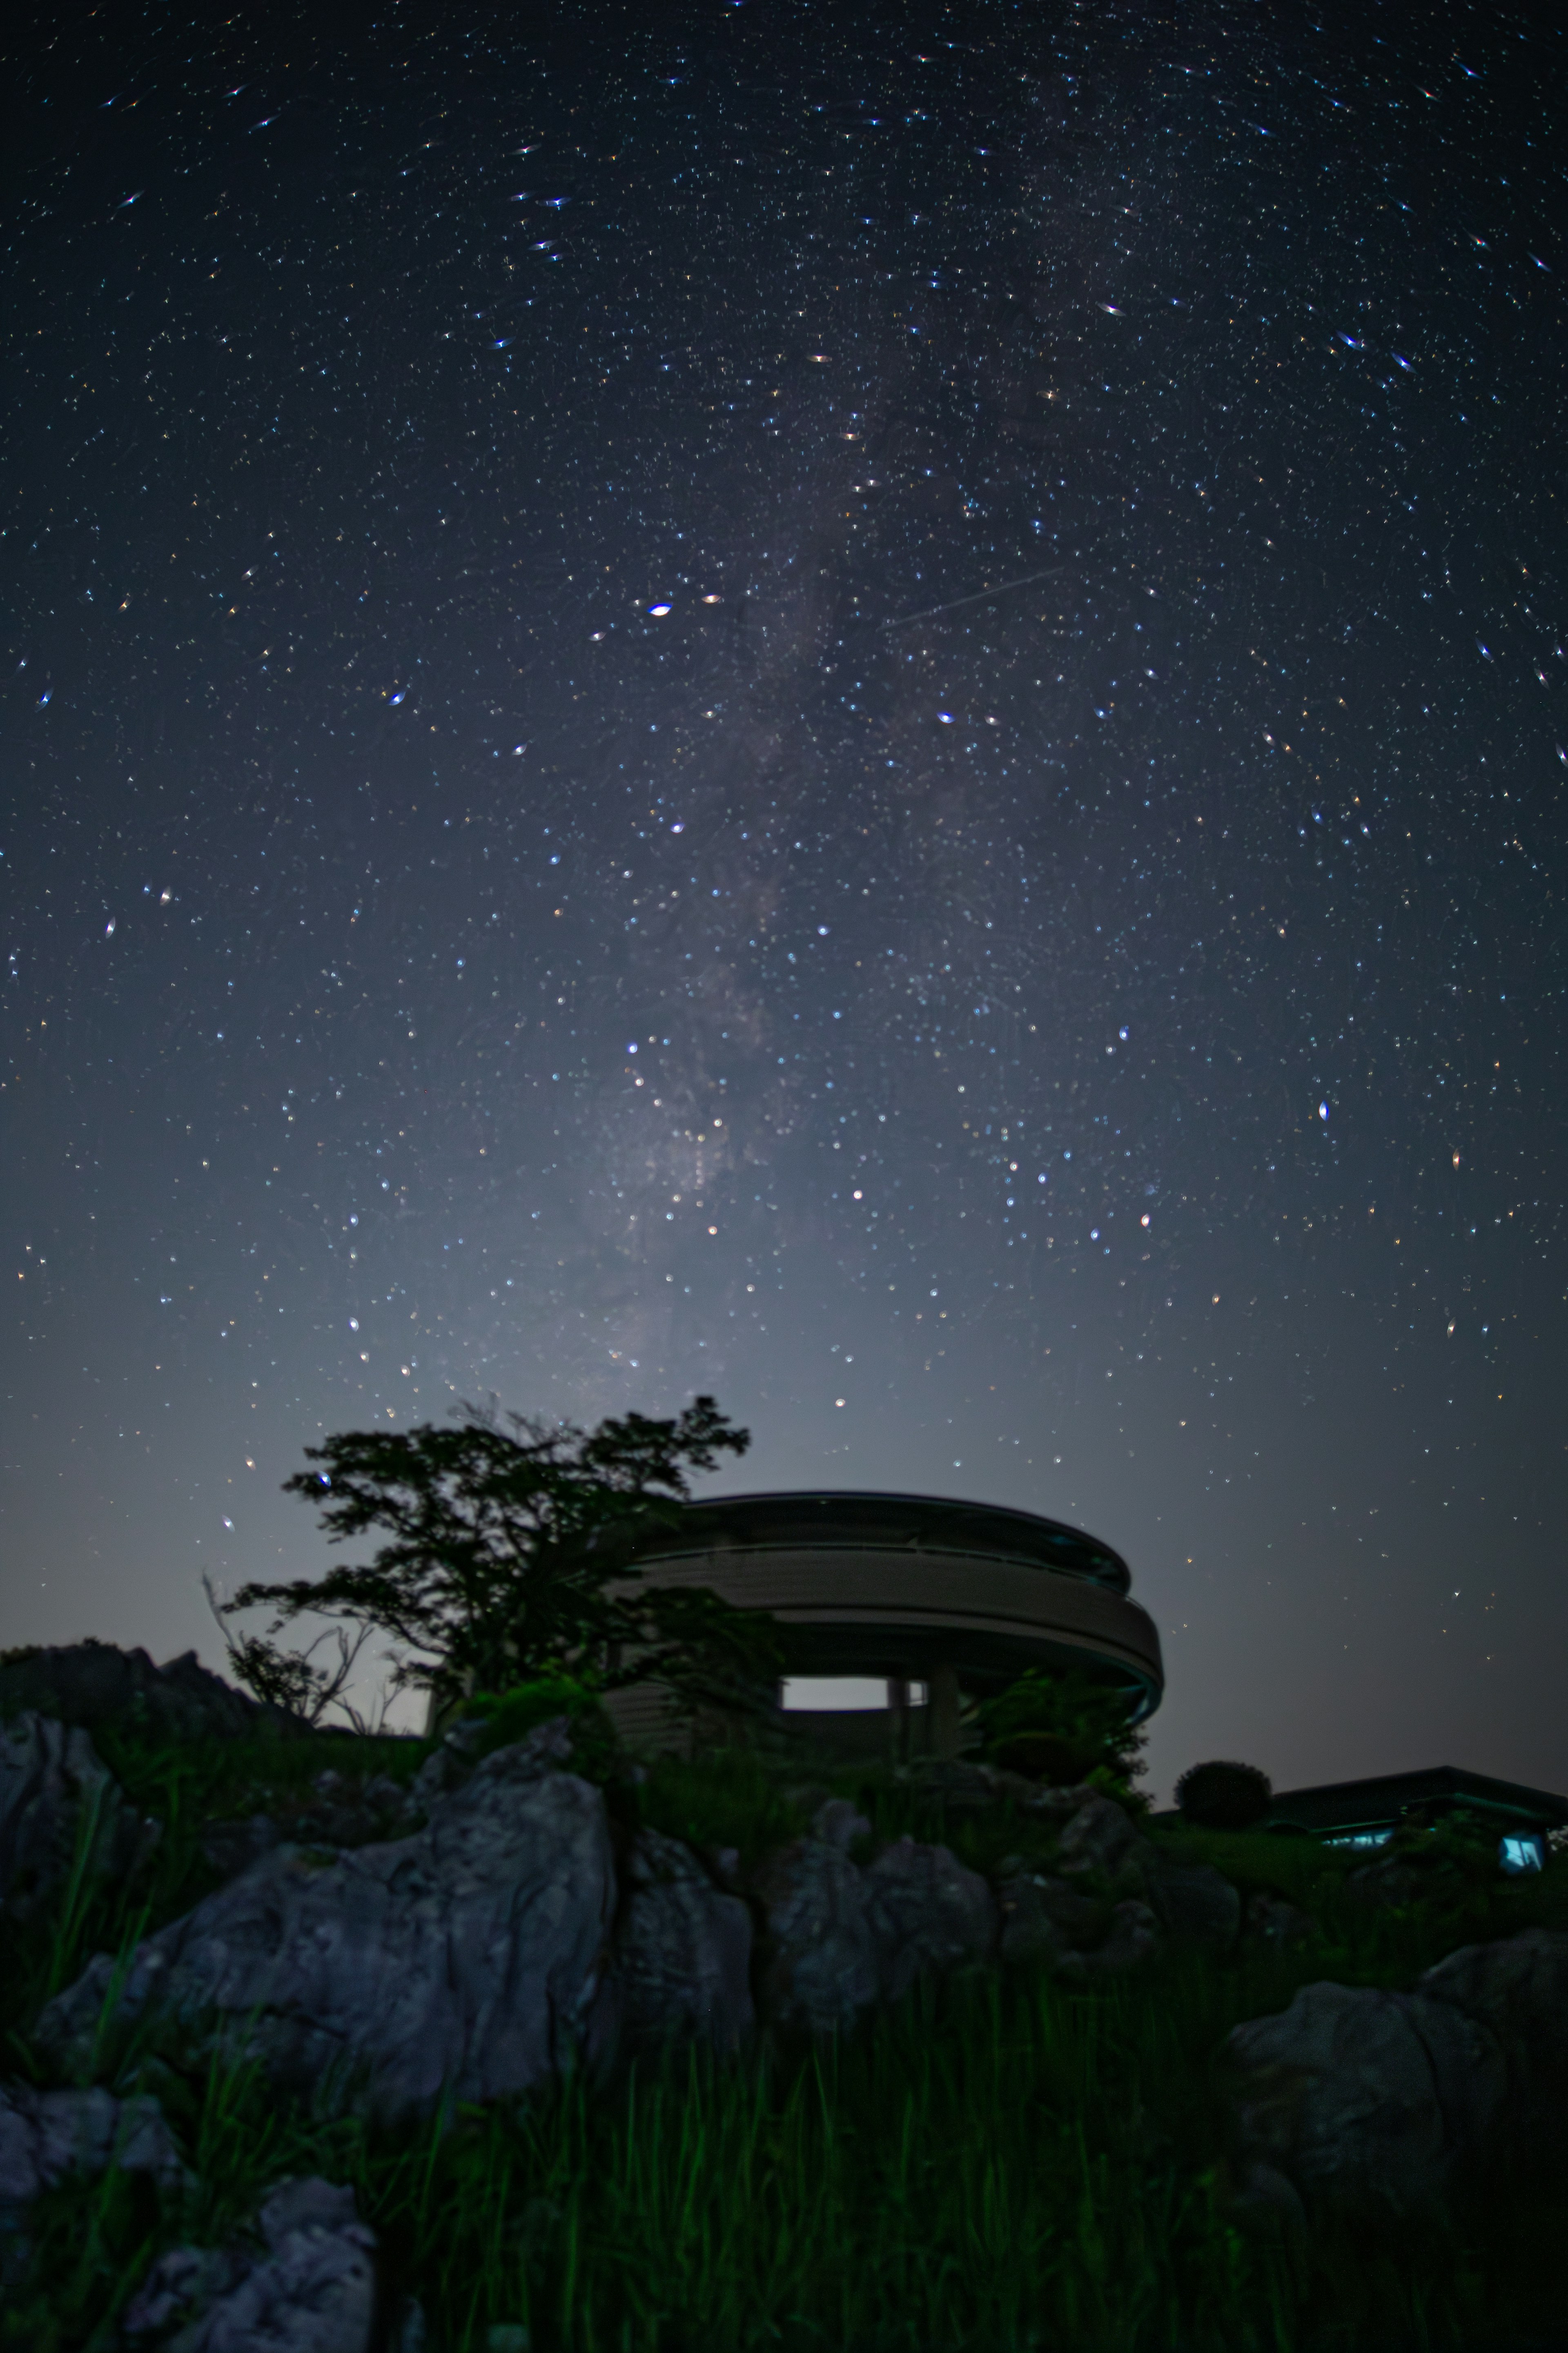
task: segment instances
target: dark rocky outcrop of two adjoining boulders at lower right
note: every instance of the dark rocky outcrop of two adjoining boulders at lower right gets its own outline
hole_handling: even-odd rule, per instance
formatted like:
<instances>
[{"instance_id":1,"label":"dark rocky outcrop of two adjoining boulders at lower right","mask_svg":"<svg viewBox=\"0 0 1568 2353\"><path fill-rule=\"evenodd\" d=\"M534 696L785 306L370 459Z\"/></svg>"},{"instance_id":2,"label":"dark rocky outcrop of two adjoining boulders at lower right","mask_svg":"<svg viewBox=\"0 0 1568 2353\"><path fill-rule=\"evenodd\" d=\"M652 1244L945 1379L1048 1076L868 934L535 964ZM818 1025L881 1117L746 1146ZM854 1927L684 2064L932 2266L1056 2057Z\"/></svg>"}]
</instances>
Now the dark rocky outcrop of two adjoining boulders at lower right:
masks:
<instances>
[{"instance_id":1,"label":"dark rocky outcrop of two adjoining boulders at lower right","mask_svg":"<svg viewBox=\"0 0 1568 2353\"><path fill-rule=\"evenodd\" d=\"M1568 1934L1465 1946L1413 1993L1302 1986L1237 2026L1232 2068L1244 2184L1279 2202L1436 2202L1500 2139L1547 2148L1568 2099Z\"/></svg>"}]
</instances>

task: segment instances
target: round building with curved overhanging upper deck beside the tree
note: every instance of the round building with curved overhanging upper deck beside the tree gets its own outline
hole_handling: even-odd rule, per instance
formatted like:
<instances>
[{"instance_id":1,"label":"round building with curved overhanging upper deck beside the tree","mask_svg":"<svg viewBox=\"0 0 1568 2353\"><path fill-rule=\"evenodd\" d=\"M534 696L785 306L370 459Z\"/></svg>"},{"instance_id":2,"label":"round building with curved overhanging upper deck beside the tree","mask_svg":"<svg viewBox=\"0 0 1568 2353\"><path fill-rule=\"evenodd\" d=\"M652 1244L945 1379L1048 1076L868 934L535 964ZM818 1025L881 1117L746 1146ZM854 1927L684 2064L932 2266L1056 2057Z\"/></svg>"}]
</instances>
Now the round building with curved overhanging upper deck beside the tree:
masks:
<instances>
[{"instance_id":1,"label":"round building with curved overhanging upper deck beside the tree","mask_svg":"<svg viewBox=\"0 0 1568 2353\"><path fill-rule=\"evenodd\" d=\"M1060 1520L926 1494L726 1494L637 1541L649 1581L769 1609L785 1657L780 1722L842 1755L954 1755L966 1699L1030 1666L1164 1692L1159 1631L1126 1560ZM654 1687L614 1694L625 1739L661 1746Z\"/></svg>"}]
</instances>

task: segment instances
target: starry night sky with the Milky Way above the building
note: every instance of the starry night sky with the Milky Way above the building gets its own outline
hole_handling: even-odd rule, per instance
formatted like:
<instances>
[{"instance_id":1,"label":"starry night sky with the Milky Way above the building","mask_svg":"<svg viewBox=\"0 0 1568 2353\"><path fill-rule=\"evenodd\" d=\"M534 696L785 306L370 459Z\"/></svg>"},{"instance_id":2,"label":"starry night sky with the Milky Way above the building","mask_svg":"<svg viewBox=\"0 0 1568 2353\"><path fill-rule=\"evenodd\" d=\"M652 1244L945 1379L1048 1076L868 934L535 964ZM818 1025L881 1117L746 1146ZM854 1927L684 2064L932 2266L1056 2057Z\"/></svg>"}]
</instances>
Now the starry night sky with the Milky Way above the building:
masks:
<instances>
[{"instance_id":1,"label":"starry night sky with the Milky Way above the building","mask_svg":"<svg viewBox=\"0 0 1568 2353\"><path fill-rule=\"evenodd\" d=\"M1159 1793L1568 1788L1566 47L35 21L0 1640L710 1391L1124 1551Z\"/></svg>"}]
</instances>

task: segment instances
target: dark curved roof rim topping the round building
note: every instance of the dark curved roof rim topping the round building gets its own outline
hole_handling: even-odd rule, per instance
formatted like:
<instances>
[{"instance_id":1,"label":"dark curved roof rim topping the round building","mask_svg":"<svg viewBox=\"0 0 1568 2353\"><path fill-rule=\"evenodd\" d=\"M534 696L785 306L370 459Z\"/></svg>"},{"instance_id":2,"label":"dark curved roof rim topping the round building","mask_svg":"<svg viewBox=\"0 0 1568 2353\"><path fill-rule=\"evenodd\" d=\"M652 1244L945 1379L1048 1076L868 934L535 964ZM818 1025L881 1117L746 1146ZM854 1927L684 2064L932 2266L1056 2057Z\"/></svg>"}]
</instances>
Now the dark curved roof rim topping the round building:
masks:
<instances>
[{"instance_id":1,"label":"dark curved roof rim topping the round building","mask_svg":"<svg viewBox=\"0 0 1568 2353\"><path fill-rule=\"evenodd\" d=\"M966 1553L1074 1577L1126 1593L1131 1569L1110 1544L1006 1504L961 1504L940 1494L877 1494L823 1487L785 1494L719 1494L684 1504L679 1520L637 1539L639 1560L715 1551Z\"/></svg>"}]
</instances>

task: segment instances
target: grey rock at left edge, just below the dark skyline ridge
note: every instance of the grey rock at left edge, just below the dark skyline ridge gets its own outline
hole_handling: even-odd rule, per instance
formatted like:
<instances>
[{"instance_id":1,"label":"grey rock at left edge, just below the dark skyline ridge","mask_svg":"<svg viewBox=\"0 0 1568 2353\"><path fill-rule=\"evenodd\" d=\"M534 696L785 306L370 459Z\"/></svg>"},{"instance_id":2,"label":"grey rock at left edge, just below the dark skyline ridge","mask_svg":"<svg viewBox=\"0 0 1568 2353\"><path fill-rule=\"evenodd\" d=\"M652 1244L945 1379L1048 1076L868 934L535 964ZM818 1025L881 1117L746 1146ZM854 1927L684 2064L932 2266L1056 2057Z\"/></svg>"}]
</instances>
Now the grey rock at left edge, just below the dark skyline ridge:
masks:
<instances>
[{"instance_id":1,"label":"grey rock at left edge, just below the dark skyline ridge","mask_svg":"<svg viewBox=\"0 0 1568 2353\"><path fill-rule=\"evenodd\" d=\"M158 1824L139 1819L89 1737L33 1711L0 1727L0 1904L28 1918L87 1840L87 1871L127 1878L153 1852Z\"/></svg>"}]
</instances>

